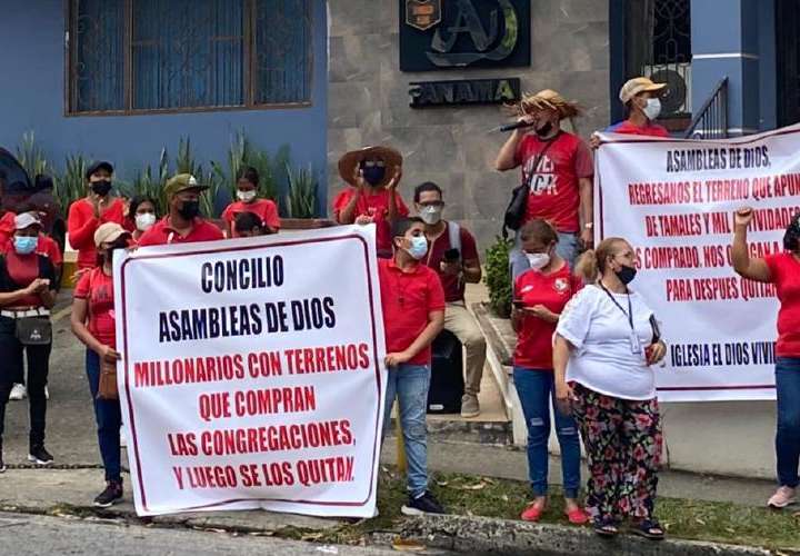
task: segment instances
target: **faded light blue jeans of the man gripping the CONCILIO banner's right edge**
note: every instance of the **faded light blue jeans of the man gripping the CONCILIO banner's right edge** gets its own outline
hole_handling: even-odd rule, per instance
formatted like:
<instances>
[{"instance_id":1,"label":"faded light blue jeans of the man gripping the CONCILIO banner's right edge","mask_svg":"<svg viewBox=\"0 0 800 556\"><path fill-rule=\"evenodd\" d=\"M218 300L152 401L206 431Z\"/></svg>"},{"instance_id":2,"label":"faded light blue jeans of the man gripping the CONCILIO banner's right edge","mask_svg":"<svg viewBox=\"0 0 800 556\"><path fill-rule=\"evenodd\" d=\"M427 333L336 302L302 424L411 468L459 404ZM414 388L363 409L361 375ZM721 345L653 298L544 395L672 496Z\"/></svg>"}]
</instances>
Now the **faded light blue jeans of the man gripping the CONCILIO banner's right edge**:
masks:
<instances>
[{"instance_id":1,"label":"faded light blue jeans of the man gripping the CONCILIO banner's right edge","mask_svg":"<svg viewBox=\"0 0 800 556\"><path fill-rule=\"evenodd\" d=\"M412 497L428 490L428 430L426 408L430 367L427 365L399 365L389 367L383 430L389 428L394 396L400 405L400 428L406 443L408 461L408 490Z\"/></svg>"}]
</instances>

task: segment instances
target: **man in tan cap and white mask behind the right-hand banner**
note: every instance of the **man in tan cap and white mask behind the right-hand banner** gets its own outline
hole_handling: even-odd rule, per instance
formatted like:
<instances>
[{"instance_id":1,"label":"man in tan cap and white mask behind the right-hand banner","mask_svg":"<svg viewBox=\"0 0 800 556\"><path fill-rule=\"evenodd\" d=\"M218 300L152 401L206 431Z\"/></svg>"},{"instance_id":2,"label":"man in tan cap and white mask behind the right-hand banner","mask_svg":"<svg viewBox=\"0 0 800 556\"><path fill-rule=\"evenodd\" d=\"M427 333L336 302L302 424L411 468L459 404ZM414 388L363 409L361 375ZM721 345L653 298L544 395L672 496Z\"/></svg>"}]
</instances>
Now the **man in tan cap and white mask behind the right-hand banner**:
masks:
<instances>
[{"instance_id":1,"label":"man in tan cap and white mask behind the right-hand banner","mask_svg":"<svg viewBox=\"0 0 800 556\"><path fill-rule=\"evenodd\" d=\"M620 89L620 100L626 106L628 119L606 129L608 133L630 136L669 137L667 128L653 123L661 113L661 99L667 83L654 83L646 77L630 79ZM590 141L593 149L600 146L600 138L593 135Z\"/></svg>"}]
</instances>

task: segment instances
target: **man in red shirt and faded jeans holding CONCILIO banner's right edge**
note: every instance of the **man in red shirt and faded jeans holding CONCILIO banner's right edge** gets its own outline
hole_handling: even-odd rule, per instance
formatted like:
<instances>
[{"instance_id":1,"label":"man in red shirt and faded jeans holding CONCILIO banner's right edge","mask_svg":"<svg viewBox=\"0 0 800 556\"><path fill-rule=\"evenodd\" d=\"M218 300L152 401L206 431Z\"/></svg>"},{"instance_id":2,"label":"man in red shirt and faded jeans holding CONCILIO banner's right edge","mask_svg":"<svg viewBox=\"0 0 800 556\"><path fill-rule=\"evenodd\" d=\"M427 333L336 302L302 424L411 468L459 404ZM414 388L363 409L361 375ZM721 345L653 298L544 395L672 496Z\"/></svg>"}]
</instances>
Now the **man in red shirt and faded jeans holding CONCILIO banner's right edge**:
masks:
<instances>
[{"instance_id":1,"label":"man in red shirt and faded jeans holding CONCILIO banner's right edge","mask_svg":"<svg viewBox=\"0 0 800 556\"><path fill-rule=\"evenodd\" d=\"M444 290L437 274L421 264L428 254L424 222L401 218L391 235L394 258L378 259L388 370L383 425L387 430L397 397L408 458L409 502L402 513L443 514L428 490L426 408L430 346L444 326Z\"/></svg>"}]
</instances>

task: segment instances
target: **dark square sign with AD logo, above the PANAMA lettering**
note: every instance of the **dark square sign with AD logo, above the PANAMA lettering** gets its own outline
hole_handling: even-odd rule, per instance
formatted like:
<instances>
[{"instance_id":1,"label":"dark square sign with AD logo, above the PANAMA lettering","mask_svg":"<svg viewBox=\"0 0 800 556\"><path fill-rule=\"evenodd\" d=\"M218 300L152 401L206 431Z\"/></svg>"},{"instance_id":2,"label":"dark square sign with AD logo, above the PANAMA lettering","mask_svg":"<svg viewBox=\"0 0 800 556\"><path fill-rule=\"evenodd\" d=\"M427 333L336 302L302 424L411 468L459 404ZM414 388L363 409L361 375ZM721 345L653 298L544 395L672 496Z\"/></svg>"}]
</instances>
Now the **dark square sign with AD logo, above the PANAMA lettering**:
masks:
<instances>
[{"instance_id":1,"label":"dark square sign with AD logo, above the PANAMA lettering","mask_svg":"<svg viewBox=\"0 0 800 556\"><path fill-rule=\"evenodd\" d=\"M400 0L400 70L530 64L530 0Z\"/></svg>"}]
</instances>

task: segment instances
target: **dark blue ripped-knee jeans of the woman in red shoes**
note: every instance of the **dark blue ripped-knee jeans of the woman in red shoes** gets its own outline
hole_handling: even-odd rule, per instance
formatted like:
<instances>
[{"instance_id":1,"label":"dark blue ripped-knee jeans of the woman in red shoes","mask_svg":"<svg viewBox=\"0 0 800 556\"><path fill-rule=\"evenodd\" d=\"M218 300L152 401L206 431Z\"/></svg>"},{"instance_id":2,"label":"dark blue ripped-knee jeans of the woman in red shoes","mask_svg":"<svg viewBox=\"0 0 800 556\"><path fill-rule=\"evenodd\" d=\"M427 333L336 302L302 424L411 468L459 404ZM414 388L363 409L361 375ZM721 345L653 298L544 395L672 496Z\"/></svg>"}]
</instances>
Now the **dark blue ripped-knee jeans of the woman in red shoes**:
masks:
<instances>
[{"instance_id":1,"label":"dark blue ripped-knee jeans of the woman in red shoes","mask_svg":"<svg viewBox=\"0 0 800 556\"><path fill-rule=\"evenodd\" d=\"M514 386L528 425L528 476L534 496L548 492L548 440L550 405L556 415L556 436L561 446L564 497L577 498L580 489L580 439L578 425L556 408L552 370L514 367Z\"/></svg>"}]
</instances>

